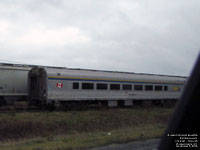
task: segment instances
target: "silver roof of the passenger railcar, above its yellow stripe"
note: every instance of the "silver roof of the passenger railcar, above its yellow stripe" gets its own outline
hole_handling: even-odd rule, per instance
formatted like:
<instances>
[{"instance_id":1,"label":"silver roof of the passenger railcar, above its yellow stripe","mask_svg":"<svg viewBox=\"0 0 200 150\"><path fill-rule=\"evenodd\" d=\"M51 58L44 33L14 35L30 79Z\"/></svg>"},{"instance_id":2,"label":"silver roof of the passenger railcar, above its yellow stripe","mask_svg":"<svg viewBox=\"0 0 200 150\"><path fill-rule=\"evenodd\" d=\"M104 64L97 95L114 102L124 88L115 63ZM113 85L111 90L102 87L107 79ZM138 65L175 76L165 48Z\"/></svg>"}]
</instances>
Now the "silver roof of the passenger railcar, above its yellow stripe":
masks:
<instances>
[{"instance_id":1,"label":"silver roof of the passenger railcar, above its yellow stripe","mask_svg":"<svg viewBox=\"0 0 200 150\"><path fill-rule=\"evenodd\" d=\"M182 76L169 76L169 75L157 75L157 74L144 74L133 72L117 72L117 71L102 71L102 70L88 70L88 69L56 69L45 68L48 76L51 77L85 77L85 78L107 78L107 79L125 79L125 80L154 80L154 81L176 81L184 82L187 78Z\"/></svg>"}]
</instances>

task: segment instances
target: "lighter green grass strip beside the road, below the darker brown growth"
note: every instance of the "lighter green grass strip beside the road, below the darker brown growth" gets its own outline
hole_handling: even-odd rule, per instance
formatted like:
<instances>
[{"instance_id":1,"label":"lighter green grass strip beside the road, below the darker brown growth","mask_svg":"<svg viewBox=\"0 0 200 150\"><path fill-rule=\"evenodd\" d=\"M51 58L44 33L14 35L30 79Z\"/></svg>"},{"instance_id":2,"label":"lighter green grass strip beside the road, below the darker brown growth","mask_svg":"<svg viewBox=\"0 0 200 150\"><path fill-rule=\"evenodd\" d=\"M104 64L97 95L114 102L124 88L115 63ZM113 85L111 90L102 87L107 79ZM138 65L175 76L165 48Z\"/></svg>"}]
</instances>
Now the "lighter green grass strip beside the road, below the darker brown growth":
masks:
<instances>
[{"instance_id":1,"label":"lighter green grass strip beside the road, below the darker brown growth","mask_svg":"<svg viewBox=\"0 0 200 150\"><path fill-rule=\"evenodd\" d=\"M0 144L4 150L71 150L89 149L112 143L126 143L133 140L145 140L160 137L164 128L140 127L111 130L109 132L73 133L56 137L34 138L20 142Z\"/></svg>"}]
</instances>

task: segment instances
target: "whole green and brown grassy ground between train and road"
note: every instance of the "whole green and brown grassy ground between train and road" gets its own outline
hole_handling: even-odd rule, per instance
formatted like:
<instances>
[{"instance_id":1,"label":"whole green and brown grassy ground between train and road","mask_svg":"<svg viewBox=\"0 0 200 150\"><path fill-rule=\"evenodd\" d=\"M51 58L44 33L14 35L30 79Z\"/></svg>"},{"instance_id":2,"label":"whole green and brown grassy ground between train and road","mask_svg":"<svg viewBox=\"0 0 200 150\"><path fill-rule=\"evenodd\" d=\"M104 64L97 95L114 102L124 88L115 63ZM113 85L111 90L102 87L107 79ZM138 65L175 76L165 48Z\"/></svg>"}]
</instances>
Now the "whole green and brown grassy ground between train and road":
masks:
<instances>
[{"instance_id":1,"label":"whole green and brown grassy ground between train and road","mask_svg":"<svg viewBox=\"0 0 200 150\"><path fill-rule=\"evenodd\" d=\"M160 137L173 108L0 114L0 149L75 150Z\"/></svg>"}]
</instances>

